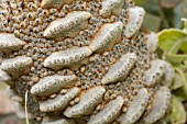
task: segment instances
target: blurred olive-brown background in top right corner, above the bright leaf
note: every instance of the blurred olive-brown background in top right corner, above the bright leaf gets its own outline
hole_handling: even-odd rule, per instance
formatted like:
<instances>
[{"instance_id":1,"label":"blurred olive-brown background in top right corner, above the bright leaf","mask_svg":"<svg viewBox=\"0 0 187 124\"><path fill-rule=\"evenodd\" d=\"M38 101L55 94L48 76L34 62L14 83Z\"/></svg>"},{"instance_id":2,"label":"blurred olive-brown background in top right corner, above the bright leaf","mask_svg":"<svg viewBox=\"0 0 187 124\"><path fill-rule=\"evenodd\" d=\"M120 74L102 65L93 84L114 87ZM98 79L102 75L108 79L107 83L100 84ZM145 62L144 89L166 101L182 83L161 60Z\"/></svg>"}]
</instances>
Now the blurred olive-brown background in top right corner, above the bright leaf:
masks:
<instances>
[{"instance_id":1,"label":"blurred olive-brown background in top right corner, above the bright leaf","mask_svg":"<svg viewBox=\"0 0 187 124\"><path fill-rule=\"evenodd\" d=\"M160 32L164 29L183 29L182 18L187 18L187 0L134 0L146 10L144 26Z\"/></svg>"}]
</instances>

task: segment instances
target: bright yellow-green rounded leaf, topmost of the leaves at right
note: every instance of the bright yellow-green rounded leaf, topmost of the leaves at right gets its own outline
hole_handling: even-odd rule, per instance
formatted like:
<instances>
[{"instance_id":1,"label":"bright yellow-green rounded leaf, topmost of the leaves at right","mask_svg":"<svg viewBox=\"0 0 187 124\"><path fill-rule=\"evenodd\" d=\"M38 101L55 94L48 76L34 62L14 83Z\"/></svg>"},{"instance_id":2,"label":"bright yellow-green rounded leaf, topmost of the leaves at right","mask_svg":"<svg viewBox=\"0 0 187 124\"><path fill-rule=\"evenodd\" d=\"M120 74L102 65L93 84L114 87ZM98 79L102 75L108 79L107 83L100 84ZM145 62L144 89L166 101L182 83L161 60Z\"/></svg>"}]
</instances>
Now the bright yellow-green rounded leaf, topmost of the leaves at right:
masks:
<instances>
[{"instance_id":1,"label":"bright yellow-green rounded leaf, topmost of the leaves at right","mask_svg":"<svg viewBox=\"0 0 187 124\"><path fill-rule=\"evenodd\" d=\"M180 30L164 30L158 33L160 47L168 53L169 49L178 42L180 38L185 38L187 34ZM183 44L182 49L187 52L187 43Z\"/></svg>"}]
</instances>

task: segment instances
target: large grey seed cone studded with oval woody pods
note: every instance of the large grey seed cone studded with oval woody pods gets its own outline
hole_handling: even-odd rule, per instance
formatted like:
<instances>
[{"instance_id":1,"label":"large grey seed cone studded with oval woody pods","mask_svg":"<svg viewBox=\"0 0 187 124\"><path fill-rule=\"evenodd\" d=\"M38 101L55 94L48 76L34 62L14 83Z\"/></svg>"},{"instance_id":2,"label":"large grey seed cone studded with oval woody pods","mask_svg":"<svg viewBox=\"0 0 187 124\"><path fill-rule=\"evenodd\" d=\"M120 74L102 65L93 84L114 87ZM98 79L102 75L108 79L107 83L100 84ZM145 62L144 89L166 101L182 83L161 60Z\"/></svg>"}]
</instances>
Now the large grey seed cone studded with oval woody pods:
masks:
<instances>
[{"instance_id":1,"label":"large grey seed cone studded with oval woody pods","mask_svg":"<svg viewBox=\"0 0 187 124\"><path fill-rule=\"evenodd\" d=\"M164 123L174 70L144 14L131 0L2 0L0 82L19 117L28 108L42 124Z\"/></svg>"}]
</instances>

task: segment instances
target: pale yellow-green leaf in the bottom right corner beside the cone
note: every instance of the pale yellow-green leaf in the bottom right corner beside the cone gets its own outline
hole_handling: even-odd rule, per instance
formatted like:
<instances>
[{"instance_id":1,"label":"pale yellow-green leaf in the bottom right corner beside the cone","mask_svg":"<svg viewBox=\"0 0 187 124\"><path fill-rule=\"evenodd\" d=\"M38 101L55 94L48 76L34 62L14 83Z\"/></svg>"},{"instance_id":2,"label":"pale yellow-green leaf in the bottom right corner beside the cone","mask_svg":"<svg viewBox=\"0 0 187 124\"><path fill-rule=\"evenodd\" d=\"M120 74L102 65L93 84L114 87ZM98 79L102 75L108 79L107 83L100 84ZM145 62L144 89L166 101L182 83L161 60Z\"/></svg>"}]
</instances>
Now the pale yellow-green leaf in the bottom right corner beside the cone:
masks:
<instances>
[{"instance_id":1,"label":"pale yellow-green leaf in the bottom right corner beside the cone","mask_svg":"<svg viewBox=\"0 0 187 124\"><path fill-rule=\"evenodd\" d=\"M186 111L182 102L176 98L172 97L172 124L185 124L186 123Z\"/></svg>"}]
</instances>

